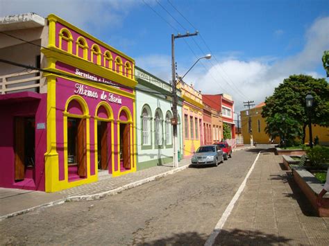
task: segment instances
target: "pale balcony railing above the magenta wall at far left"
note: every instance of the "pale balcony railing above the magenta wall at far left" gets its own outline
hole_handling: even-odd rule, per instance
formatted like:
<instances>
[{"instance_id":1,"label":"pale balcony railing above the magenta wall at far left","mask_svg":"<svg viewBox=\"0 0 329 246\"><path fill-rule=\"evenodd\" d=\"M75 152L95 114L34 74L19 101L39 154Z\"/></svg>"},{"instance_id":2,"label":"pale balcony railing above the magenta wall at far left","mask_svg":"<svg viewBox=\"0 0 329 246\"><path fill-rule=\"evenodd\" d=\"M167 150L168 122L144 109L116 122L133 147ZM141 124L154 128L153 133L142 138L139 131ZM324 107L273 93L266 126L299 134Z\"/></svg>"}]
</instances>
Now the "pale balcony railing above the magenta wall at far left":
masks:
<instances>
[{"instance_id":1,"label":"pale balcony railing above the magenta wall at far left","mask_svg":"<svg viewBox=\"0 0 329 246\"><path fill-rule=\"evenodd\" d=\"M21 91L40 91L40 72L37 70L10 73L0 76L1 94Z\"/></svg>"}]
</instances>

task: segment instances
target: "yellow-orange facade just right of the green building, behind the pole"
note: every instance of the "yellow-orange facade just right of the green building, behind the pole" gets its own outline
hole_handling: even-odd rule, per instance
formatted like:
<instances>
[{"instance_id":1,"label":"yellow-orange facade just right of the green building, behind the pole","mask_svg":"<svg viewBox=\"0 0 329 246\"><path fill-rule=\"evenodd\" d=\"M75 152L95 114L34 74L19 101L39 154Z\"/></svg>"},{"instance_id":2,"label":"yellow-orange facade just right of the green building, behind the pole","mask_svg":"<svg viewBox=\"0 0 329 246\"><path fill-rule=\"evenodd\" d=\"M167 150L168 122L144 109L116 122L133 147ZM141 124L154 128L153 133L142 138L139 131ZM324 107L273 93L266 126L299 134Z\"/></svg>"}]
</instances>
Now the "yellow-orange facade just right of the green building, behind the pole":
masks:
<instances>
[{"instance_id":1,"label":"yellow-orange facade just right of the green building, behind the pole","mask_svg":"<svg viewBox=\"0 0 329 246\"><path fill-rule=\"evenodd\" d=\"M185 82L179 82L177 88L183 98L183 156L191 157L203 141L202 95Z\"/></svg>"}]
</instances>

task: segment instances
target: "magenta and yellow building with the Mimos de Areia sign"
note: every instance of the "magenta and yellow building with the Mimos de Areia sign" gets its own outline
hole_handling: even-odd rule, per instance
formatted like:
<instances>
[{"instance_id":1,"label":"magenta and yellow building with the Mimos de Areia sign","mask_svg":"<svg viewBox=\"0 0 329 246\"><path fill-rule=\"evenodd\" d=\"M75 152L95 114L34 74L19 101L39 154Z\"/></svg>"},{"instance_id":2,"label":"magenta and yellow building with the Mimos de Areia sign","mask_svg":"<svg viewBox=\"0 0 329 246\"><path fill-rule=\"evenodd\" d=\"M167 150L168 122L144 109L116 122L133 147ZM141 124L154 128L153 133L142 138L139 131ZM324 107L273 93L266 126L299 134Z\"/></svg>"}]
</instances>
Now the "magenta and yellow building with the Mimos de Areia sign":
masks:
<instances>
[{"instance_id":1,"label":"magenta and yellow building with the Mimos de Areia sign","mask_svg":"<svg viewBox=\"0 0 329 246\"><path fill-rule=\"evenodd\" d=\"M26 19L31 30L20 28ZM113 177L135 171L135 61L56 15L38 21L13 17L6 30L36 39L33 53L23 51L26 42L1 48L15 54L8 60L37 58L43 69L27 85L2 85L0 124L9 130L0 140L1 186L53 192L95 182L99 170Z\"/></svg>"}]
</instances>

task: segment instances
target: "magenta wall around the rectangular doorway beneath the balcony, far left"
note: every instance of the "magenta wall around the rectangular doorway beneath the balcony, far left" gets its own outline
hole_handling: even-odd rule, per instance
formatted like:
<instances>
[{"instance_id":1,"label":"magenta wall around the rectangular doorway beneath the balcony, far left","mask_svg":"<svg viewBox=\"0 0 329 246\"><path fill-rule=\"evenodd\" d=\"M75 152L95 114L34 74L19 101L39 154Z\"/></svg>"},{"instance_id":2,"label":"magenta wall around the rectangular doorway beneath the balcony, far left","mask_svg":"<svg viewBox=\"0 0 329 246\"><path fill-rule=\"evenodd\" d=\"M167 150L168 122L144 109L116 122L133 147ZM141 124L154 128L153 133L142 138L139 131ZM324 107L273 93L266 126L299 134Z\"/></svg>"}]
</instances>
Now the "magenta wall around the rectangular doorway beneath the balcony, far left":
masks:
<instances>
[{"instance_id":1,"label":"magenta wall around the rectangular doorway beneath the balcony, far left","mask_svg":"<svg viewBox=\"0 0 329 246\"><path fill-rule=\"evenodd\" d=\"M1 95L2 96L2 95ZM0 96L0 186L44 191L44 153L47 151L47 130L35 127L35 170L32 182L15 183L14 117L35 116L37 123L46 124L47 94L21 92Z\"/></svg>"}]
</instances>

